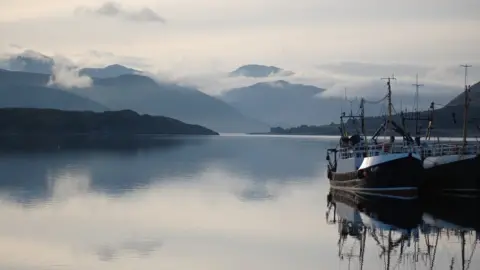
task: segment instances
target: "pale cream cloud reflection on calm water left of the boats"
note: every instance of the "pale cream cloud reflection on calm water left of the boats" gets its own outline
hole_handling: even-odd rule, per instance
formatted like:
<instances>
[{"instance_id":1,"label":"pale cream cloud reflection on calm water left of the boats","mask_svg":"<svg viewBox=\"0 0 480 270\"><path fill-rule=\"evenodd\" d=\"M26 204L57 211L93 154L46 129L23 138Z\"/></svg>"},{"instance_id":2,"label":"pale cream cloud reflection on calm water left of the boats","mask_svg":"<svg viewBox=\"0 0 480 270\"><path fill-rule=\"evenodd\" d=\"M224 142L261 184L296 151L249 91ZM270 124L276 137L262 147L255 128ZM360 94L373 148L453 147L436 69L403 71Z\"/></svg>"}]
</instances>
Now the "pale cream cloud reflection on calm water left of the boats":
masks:
<instances>
[{"instance_id":1,"label":"pale cream cloud reflection on calm water left of the boats","mask_svg":"<svg viewBox=\"0 0 480 270\"><path fill-rule=\"evenodd\" d=\"M0 268L313 269L321 242L335 238L322 230L318 183L267 187L275 200L245 202L237 193L248 180L221 170L118 197L85 193L85 174L56 181L49 202L2 200Z\"/></svg>"}]
</instances>

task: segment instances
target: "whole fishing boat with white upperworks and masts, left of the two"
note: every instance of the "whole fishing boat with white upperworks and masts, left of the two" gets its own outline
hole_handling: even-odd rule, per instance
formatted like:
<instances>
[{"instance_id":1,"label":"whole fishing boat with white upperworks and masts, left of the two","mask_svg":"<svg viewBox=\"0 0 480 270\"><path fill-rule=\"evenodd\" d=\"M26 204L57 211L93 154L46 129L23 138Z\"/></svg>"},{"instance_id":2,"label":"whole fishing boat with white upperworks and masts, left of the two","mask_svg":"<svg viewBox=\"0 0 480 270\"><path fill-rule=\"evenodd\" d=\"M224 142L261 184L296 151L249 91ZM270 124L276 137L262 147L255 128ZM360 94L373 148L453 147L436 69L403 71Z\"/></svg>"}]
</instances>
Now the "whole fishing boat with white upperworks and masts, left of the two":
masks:
<instances>
[{"instance_id":1,"label":"whole fishing boat with white upperworks and masts, left of the two","mask_svg":"<svg viewBox=\"0 0 480 270\"><path fill-rule=\"evenodd\" d=\"M341 138L336 148L327 149L327 176L333 189L354 192L365 196L383 196L397 199L416 199L421 185L423 164L419 147L399 125L392 120L391 77L387 80L388 118L370 140L365 132L365 103L360 101L359 116L340 117ZM361 132L348 136L343 118L360 118ZM385 131L389 141L378 142ZM395 143L397 134L403 142ZM333 158L332 158L333 156Z\"/></svg>"}]
</instances>

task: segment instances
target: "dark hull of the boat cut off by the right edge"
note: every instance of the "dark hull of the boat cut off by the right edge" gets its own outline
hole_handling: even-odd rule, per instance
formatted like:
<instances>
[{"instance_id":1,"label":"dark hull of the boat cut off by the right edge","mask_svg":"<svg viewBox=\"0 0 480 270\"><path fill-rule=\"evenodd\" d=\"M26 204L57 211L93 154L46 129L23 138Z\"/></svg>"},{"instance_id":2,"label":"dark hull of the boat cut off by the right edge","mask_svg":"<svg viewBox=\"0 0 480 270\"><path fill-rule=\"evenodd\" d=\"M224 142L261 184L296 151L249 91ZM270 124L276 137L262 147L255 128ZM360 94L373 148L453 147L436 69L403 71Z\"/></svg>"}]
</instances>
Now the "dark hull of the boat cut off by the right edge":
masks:
<instances>
[{"instance_id":1,"label":"dark hull of the boat cut off by the right edge","mask_svg":"<svg viewBox=\"0 0 480 270\"><path fill-rule=\"evenodd\" d=\"M431 164L431 160L425 159L422 192L480 197L480 156L440 158L446 162Z\"/></svg>"}]
</instances>

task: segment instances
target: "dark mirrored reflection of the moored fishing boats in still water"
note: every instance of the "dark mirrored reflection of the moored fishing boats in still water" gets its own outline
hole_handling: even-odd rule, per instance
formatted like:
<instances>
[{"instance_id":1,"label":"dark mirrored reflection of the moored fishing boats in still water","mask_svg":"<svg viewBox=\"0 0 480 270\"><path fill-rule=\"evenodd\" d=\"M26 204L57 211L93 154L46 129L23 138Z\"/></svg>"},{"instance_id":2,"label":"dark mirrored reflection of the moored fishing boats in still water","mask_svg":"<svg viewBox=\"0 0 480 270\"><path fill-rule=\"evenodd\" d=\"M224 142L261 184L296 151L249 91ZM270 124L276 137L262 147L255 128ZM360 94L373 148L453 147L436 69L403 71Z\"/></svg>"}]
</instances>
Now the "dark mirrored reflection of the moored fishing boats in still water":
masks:
<instances>
[{"instance_id":1,"label":"dark mirrored reflection of the moored fishing boats in still water","mask_svg":"<svg viewBox=\"0 0 480 270\"><path fill-rule=\"evenodd\" d=\"M474 260L478 212L467 217L466 212L430 207L430 202L372 199L338 190L330 191L328 204L327 223L338 226L340 269L480 267L480 258Z\"/></svg>"}]
</instances>

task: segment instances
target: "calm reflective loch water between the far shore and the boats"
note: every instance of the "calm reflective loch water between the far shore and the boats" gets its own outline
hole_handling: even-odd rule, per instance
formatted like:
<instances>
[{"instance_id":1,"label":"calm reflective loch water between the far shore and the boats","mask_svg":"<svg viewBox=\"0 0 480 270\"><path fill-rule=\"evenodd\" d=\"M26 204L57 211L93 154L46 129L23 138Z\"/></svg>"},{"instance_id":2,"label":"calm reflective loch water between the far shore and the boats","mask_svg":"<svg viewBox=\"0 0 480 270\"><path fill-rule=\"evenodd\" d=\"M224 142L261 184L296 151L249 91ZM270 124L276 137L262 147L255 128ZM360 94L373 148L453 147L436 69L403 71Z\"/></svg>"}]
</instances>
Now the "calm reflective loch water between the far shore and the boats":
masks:
<instances>
[{"instance_id":1,"label":"calm reflective loch water between the far shore and the boats","mask_svg":"<svg viewBox=\"0 0 480 270\"><path fill-rule=\"evenodd\" d=\"M347 238L339 255L326 219L324 150L336 139L163 140L0 154L0 269L359 269L348 256L359 244ZM480 267L474 237L470 269ZM462 269L457 239L439 237L434 269ZM377 240L366 240L364 269L385 269ZM401 261L392 251L391 269L430 269L427 255L409 255L416 247L405 244Z\"/></svg>"}]
</instances>

